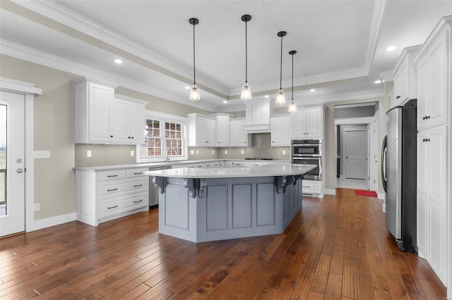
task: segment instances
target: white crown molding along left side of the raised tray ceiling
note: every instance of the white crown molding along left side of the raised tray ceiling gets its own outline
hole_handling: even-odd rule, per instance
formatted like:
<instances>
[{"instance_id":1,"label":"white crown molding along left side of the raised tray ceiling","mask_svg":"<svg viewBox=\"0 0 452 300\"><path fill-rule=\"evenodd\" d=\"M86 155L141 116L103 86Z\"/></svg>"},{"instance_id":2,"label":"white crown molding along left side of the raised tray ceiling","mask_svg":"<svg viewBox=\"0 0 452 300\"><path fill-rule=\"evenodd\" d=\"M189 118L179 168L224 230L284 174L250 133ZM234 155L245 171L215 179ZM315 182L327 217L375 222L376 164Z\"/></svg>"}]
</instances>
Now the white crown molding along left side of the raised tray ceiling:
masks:
<instances>
[{"instance_id":1,"label":"white crown molding along left side of the raised tray ceiling","mask_svg":"<svg viewBox=\"0 0 452 300\"><path fill-rule=\"evenodd\" d=\"M188 68L182 68L180 65L174 64L171 60L164 56L160 56L153 51L146 49L141 44L131 41L122 35L118 35L116 32L109 30L107 27L103 27L100 24L94 23L92 20L75 13L64 6L61 6L54 1L22 1L22 0L11 0L14 4L27 8L30 11L39 13L46 18L50 18L62 25L82 32L85 35L94 37L102 42L110 44L122 51L126 51L133 56L144 59L148 61L157 68L153 68L156 72L165 74L169 77L173 77L176 80L181 80L182 82L191 82L192 70ZM16 12L15 12L16 13ZM26 16L24 16L26 18ZM44 26L50 27L51 25L45 23ZM53 30L58 30L58 28L52 27ZM68 35L68 32L63 32ZM79 37L74 37L78 38ZM83 41L86 42L86 41ZM99 46L99 45L96 45ZM105 49L106 50L106 49ZM118 54L119 55L119 54ZM120 56L120 55L119 55ZM124 57L123 57L124 58ZM129 58L124 58L129 59ZM136 62L136 61L135 61ZM137 63L137 62L136 62ZM138 62L139 63L139 62ZM149 65L147 68L151 68ZM163 69L163 70L162 70ZM166 71L166 72L165 72ZM169 71L169 72L168 72ZM174 73L173 75L171 73ZM179 75L179 76L176 76ZM184 77L184 78L181 78ZM182 80L184 79L184 80ZM218 82L213 82L212 80L198 75L198 81L203 82L203 87L205 89L212 89L212 94L215 92L222 98L226 99L227 89L220 85ZM201 87L201 85L198 85Z\"/></svg>"}]
</instances>

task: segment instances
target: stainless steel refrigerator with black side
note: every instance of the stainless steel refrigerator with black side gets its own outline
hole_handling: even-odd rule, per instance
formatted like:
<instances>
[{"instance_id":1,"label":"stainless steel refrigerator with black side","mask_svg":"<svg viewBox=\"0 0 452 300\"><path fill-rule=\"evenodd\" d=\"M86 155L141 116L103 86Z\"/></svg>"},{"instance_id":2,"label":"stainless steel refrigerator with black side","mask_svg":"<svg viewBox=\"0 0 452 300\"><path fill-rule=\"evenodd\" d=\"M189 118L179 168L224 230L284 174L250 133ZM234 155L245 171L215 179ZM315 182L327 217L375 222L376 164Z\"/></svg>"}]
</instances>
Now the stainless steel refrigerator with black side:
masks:
<instances>
[{"instance_id":1,"label":"stainless steel refrigerator with black side","mask_svg":"<svg viewBox=\"0 0 452 300\"><path fill-rule=\"evenodd\" d=\"M416 99L386 113L387 135L381 150L386 192L386 227L402 251L417 253Z\"/></svg>"}]
</instances>

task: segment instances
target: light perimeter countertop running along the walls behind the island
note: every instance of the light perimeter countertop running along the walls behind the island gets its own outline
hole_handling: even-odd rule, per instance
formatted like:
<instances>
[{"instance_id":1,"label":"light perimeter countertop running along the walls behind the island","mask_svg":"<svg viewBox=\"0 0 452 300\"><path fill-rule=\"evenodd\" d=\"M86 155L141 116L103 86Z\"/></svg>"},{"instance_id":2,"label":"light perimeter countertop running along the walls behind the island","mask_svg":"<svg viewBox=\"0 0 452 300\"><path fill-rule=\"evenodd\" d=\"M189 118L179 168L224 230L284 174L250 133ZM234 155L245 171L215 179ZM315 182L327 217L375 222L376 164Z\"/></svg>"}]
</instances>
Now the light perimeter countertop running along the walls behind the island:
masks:
<instances>
[{"instance_id":1,"label":"light perimeter countertop running along the walls behind the island","mask_svg":"<svg viewBox=\"0 0 452 300\"><path fill-rule=\"evenodd\" d=\"M75 167L73 170L91 170L91 171L102 171L102 170L118 170L118 169L131 169L131 168L153 168L153 167L162 167L162 166L170 166L177 167L177 165L184 165L189 163L209 163L212 161L252 161L245 159L233 159L233 158L214 158L214 159L203 159L198 161L160 161L157 163L131 163L127 165L93 165L90 167ZM289 161L254 161L254 162L263 162L263 163L290 163Z\"/></svg>"}]
</instances>

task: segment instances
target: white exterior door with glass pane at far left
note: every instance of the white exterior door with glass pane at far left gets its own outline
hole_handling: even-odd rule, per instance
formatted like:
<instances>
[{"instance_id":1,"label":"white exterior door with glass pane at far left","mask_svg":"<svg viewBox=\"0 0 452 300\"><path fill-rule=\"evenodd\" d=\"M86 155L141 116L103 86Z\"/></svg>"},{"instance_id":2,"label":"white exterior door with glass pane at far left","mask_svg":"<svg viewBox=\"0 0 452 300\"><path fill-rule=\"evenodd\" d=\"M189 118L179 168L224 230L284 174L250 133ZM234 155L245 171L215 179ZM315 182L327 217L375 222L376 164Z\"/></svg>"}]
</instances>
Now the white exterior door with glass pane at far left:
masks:
<instances>
[{"instance_id":1,"label":"white exterior door with glass pane at far left","mask_svg":"<svg viewBox=\"0 0 452 300\"><path fill-rule=\"evenodd\" d=\"M25 96L0 92L0 236L25 231Z\"/></svg>"}]
</instances>

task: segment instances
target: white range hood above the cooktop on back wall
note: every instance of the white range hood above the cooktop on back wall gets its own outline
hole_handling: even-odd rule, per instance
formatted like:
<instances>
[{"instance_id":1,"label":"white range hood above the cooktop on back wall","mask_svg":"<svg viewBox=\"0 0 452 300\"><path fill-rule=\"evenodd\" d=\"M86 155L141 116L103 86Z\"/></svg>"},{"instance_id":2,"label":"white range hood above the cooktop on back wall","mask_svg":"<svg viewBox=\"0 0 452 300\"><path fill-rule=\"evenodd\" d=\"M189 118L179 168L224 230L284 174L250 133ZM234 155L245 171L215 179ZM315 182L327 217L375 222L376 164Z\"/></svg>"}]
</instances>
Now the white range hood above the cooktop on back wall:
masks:
<instances>
[{"instance_id":1,"label":"white range hood above the cooktop on back wall","mask_svg":"<svg viewBox=\"0 0 452 300\"><path fill-rule=\"evenodd\" d=\"M264 133L270 132L270 98L245 101L245 132Z\"/></svg>"}]
</instances>

